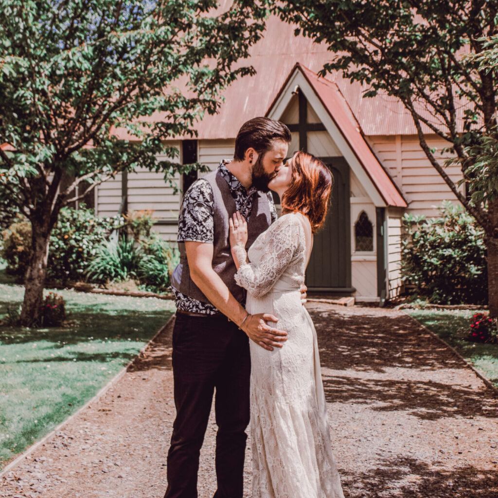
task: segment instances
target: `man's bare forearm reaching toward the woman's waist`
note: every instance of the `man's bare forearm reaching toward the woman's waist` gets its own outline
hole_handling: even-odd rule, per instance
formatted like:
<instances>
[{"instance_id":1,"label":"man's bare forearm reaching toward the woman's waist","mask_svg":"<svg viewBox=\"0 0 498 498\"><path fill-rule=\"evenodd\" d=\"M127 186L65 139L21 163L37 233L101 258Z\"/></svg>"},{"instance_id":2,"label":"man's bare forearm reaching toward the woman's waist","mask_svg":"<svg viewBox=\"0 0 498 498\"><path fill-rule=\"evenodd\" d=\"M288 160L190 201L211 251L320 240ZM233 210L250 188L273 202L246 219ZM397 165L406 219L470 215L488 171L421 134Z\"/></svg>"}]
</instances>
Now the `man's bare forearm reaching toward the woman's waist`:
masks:
<instances>
[{"instance_id":1,"label":"man's bare forearm reaching toward the woman's waist","mask_svg":"<svg viewBox=\"0 0 498 498\"><path fill-rule=\"evenodd\" d=\"M190 276L201 289L211 304L218 308L225 316L237 325L240 325L247 315L247 311L230 292L226 284L212 268L194 270L190 268Z\"/></svg>"}]
</instances>

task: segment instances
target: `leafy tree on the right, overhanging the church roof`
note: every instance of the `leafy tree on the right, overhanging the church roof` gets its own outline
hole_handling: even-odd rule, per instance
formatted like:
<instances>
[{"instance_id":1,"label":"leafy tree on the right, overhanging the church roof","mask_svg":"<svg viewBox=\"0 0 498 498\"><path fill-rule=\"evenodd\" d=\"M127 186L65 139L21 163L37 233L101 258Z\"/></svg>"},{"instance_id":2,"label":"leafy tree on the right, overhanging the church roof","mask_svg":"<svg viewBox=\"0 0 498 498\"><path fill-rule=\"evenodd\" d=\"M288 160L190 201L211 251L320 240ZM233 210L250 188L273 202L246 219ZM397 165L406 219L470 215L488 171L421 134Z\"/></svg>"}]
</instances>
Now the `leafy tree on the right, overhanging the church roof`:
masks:
<instances>
[{"instance_id":1,"label":"leafy tree on the right, overhanging the church roof","mask_svg":"<svg viewBox=\"0 0 498 498\"><path fill-rule=\"evenodd\" d=\"M497 317L498 1L263 3L297 24L296 34L328 44L335 55L323 76L341 71L351 81L366 84L364 97L395 96L409 111L430 163L484 229L490 313ZM428 134L447 140L453 161L462 166L466 193L436 158Z\"/></svg>"}]
</instances>

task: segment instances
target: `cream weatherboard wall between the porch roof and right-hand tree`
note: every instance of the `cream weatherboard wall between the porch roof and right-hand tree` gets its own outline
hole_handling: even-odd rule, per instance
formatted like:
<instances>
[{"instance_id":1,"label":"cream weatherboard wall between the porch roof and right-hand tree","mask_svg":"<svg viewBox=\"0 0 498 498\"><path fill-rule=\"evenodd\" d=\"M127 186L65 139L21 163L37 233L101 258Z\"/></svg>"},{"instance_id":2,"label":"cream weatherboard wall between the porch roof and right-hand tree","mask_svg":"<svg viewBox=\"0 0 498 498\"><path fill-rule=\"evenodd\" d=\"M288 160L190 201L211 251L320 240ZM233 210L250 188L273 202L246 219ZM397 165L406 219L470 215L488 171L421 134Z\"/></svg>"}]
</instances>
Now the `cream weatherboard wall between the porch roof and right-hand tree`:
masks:
<instances>
[{"instance_id":1,"label":"cream weatherboard wall between the porch roof and right-hand tree","mask_svg":"<svg viewBox=\"0 0 498 498\"><path fill-rule=\"evenodd\" d=\"M407 212L425 216L437 216L437 206L442 201L458 202L439 173L431 165L420 147L415 135L370 136L373 151L392 177L408 203ZM440 164L450 155L441 150L449 142L436 135L428 138L429 147L437 149L436 159ZM445 168L450 178L456 183L462 177L458 166Z\"/></svg>"}]
</instances>

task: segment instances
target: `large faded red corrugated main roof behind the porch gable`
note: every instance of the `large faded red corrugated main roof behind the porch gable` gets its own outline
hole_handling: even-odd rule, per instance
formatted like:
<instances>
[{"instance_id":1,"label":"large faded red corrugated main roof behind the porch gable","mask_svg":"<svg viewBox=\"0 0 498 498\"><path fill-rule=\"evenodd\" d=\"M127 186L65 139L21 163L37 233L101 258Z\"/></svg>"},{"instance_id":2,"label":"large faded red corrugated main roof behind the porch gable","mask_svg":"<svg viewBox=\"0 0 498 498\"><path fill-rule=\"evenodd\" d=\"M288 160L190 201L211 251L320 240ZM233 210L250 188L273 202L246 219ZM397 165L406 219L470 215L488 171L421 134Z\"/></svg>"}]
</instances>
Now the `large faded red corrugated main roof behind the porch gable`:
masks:
<instances>
[{"instance_id":1,"label":"large faded red corrugated main roof behind the porch gable","mask_svg":"<svg viewBox=\"0 0 498 498\"><path fill-rule=\"evenodd\" d=\"M252 65L256 74L236 80L225 90L225 102L220 112L216 116L206 115L197 125L200 139L235 138L245 121L264 115L297 62L318 73L334 57L325 43L318 44L310 38L295 36L294 29L294 25L275 16L267 20L264 36L250 49L249 60L240 63ZM327 78L337 84L366 135L416 134L411 116L396 98L377 95L364 99L362 94L366 85L351 83L339 73L327 75ZM459 118L463 116L465 107L468 106L459 109ZM431 119L430 110L421 107L419 110L424 117ZM160 115L156 113L147 120L158 119ZM425 125L424 131L429 131ZM125 139L131 138L124 130L119 130L118 134Z\"/></svg>"}]
</instances>

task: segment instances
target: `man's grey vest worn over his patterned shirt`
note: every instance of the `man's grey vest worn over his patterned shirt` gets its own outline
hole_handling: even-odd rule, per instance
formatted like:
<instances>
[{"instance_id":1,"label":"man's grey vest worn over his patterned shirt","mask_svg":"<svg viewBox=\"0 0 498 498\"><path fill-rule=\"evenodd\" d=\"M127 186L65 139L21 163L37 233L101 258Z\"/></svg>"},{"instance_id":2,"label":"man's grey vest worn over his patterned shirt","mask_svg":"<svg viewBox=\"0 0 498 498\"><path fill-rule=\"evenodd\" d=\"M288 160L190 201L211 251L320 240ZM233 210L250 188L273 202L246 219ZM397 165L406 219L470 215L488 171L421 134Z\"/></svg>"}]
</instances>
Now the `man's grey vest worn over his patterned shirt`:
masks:
<instances>
[{"instance_id":1,"label":"man's grey vest worn over his patterned shirt","mask_svg":"<svg viewBox=\"0 0 498 498\"><path fill-rule=\"evenodd\" d=\"M213 269L220 275L234 297L242 302L245 298L245 289L235 283L234 275L237 272L232 253L230 252L230 227L228 220L237 211L235 200L232 197L227 181L217 172L213 171L204 176L213 190L213 218L214 218L214 241L213 241ZM271 224L270 204L266 194L257 192L252 204L252 211L248 220L248 242L246 250L256 240L257 236L264 232ZM171 275L171 286L186 296L205 303L209 299L202 293L190 278L190 269L185 253L185 244L178 243L180 249L180 262Z\"/></svg>"}]
</instances>

